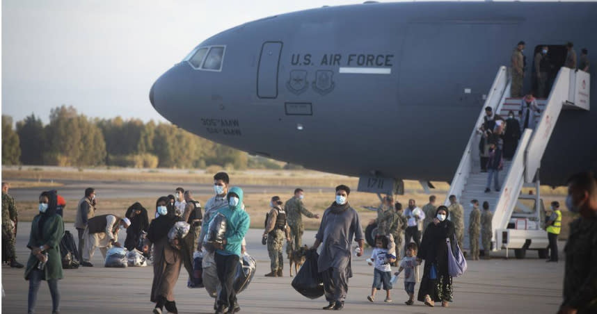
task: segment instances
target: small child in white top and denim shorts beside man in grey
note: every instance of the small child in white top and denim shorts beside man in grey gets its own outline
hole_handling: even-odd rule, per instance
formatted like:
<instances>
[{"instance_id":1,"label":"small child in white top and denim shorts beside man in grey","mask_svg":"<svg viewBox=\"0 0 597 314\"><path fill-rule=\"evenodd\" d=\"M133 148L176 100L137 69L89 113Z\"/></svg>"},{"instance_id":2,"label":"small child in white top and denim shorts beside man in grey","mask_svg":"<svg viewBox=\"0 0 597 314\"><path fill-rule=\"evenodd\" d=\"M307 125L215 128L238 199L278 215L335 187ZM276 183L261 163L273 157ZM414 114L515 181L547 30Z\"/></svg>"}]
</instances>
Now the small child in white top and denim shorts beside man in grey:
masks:
<instances>
[{"instance_id":1,"label":"small child in white top and denim shorts beside man in grey","mask_svg":"<svg viewBox=\"0 0 597 314\"><path fill-rule=\"evenodd\" d=\"M388 238L386 236L376 236L375 248L371 254L371 259L367 262L369 265L374 265L373 271L373 286L371 288L371 295L367 296L369 301L375 300L376 290L380 290L383 283L383 290L385 290L385 302L391 302L390 290L392 289L392 283L390 277L392 276L392 270L390 263L396 261L396 256L392 255L393 252L388 252ZM395 253L394 253L395 254Z\"/></svg>"}]
</instances>

